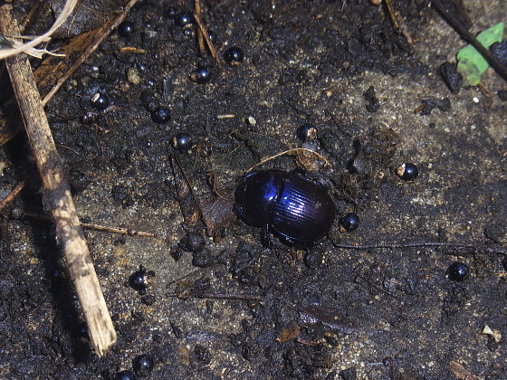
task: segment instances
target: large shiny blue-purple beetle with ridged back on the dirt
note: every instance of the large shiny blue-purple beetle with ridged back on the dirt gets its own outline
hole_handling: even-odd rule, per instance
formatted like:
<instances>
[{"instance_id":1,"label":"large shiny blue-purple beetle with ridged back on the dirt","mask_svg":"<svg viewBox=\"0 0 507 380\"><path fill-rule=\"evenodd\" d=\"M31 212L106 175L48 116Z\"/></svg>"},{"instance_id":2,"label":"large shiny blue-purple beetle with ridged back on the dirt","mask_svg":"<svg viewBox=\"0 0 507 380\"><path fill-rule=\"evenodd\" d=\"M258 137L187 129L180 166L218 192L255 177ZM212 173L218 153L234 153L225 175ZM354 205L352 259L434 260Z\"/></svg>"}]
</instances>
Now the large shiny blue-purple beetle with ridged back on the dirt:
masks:
<instances>
[{"instance_id":1,"label":"large shiny blue-purple beetle with ridged back on the dirt","mask_svg":"<svg viewBox=\"0 0 507 380\"><path fill-rule=\"evenodd\" d=\"M310 248L334 221L327 191L297 172L263 170L243 176L234 193L235 210L244 223L272 231L282 242Z\"/></svg>"}]
</instances>

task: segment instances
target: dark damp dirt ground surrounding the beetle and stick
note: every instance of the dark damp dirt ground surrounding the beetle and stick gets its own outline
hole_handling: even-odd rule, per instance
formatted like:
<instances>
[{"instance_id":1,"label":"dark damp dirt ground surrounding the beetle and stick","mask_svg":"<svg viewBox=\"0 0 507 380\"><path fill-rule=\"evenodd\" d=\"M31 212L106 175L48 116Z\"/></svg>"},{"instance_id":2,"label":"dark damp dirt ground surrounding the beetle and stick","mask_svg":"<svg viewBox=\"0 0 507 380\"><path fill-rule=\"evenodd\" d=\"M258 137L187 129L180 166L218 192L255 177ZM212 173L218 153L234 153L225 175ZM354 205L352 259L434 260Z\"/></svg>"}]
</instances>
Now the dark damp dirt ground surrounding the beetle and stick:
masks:
<instances>
[{"instance_id":1,"label":"dark damp dirt ground surrounding the beetle and stick","mask_svg":"<svg viewBox=\"0 0 507 380\"><path fill-rule=\"evenodd\" d=\"M14 2L20 13L29 3ZM26 181L2 211L0 377L116 379L148 355L154 366L138 377L506 379L507 102L497 93L507 84L490 69L481 89L451 92L439 66L466 43L426 0L392 4L412 45L384 4L366 0L203 1L217 52L243 49L237 66L201 56L196 26L175 24L193 2L136 5L132 35L111 33L46 111L81 222L157 237L85 230L118 332L99 358L26 138L0 147L0 198ZM503 0L464 9L474 33L507 21ZM201 66L205 84L190 79ZM170 109L167 123L151 119L146 90ZM97 92L111 105L84 123ZM423 109L445 99L450 108ZM319 138L302 143L304 123ZM171 146L178 132L194 138L190 153ZM330 165L283 155L259 168L311 170L337 214L361 221L342 233L338 216L308 252L276 237L264 248L230 202L245 170L295 147ZM409 162L419 176L402 181L397 166ZM215 239L202 221L184 224L181 181L229 216L215 220ZM446 278L454 261L470 267L462 282ZM126 286L139 265L155 272L146 294Z\"/></svg>"}]
</instances>

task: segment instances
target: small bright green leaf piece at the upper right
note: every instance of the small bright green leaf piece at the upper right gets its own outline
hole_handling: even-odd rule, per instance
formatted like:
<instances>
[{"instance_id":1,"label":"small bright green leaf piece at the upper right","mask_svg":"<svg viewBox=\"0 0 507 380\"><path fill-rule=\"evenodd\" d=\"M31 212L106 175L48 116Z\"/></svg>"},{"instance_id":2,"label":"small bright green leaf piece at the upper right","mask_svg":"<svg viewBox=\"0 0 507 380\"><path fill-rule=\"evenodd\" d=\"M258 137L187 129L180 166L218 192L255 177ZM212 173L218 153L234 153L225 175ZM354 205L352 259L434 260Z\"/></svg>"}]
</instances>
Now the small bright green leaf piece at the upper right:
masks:
<instances>
[{"instance_id":1,"label":"small bright green leaf piece at the upper right","mask_svg":"<svg viewBox=\"0 0 507 380\"><path fill-rule=\"evenodd\" d=\"M486 49L493 45L493 43L502 42L503 26L503 23L499 23L479 33L477 41ZM456 54L456 59L458 60L457 71L463 75L465 86L476 86L479 84L483 72L490 66L483 55L477 52L472 45L466 45L460 50Z\"/></svg>"}]
</instances>

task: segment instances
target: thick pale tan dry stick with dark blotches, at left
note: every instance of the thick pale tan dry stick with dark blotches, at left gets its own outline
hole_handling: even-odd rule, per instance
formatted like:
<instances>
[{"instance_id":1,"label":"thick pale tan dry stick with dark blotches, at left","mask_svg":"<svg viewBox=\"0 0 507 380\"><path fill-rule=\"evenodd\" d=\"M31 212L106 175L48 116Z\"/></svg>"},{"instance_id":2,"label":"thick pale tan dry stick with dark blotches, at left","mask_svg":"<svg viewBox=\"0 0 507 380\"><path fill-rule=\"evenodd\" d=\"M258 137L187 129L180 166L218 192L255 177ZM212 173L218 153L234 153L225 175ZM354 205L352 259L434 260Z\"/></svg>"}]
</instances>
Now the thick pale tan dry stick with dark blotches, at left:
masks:
<instances>
[{"instance_id":1,"label":"thick pale tan dry stick with dark blotches, at left","mask_svg":"<svg viewBox=\"0 0 507 380\"><path fill-rule=\"evenodd\" d=\"M11 9L12 5L9 4L0 6L0 29L5 34L19 35ZM116 331L91 262L72 202L70 186L64 179L62 159L54 145L32 68L23 53L6 58L5 64L13 83L33 156L43 179L44 207L53 216L56 234L62 244L62 251L88 325L91 345L98 356L103 356L116 342Z\"/></svg>"}]
</instances>

